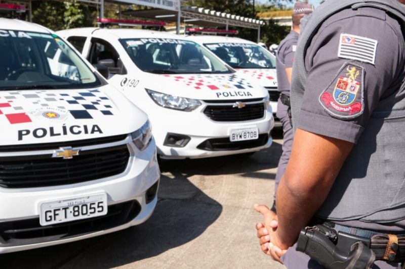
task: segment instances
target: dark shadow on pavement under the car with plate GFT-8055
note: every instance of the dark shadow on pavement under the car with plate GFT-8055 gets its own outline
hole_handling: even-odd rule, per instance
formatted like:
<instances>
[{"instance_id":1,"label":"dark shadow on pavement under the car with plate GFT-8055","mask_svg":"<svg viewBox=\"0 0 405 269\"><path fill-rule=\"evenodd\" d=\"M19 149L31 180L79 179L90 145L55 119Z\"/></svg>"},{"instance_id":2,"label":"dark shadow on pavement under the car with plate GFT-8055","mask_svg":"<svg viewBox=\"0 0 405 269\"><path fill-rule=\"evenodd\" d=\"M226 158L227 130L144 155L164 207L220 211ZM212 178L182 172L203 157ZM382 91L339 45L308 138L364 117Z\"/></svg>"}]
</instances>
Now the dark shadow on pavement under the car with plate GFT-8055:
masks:
<instances>
[{"instance_id":1,"label":"dark shadow on pavement under the car with plate GFT-8055","mask_svg":"<svg viewBox=\"0 0 405 269\"><path fill-rule=\"evenodd\" d=\"M138 226L88 240L0 255L0 268L110 268L146 259L201 235L222 205L186 177L161 177L151 218Z\"/></svg>"}]
</instances>

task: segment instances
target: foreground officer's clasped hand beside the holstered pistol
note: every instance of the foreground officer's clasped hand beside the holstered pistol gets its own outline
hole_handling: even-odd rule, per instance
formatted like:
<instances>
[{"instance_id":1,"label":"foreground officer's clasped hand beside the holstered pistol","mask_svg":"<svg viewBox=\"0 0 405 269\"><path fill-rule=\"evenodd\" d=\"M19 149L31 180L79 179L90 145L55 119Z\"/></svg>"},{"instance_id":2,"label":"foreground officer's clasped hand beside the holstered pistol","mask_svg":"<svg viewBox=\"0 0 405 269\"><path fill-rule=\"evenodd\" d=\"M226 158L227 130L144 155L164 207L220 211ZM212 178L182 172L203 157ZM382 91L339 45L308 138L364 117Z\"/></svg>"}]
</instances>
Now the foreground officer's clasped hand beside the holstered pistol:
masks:
<instances>
[{"instance_id":1,"label":"foreground officer's clasped hand beside the holstered pistol","mask_svg":"<svg viewBox=\"0 0 405 269\"><path fill-rule=\"evenodd\" d=\"M270 255L273 260L282 263L280 257L287 252L282 249L282 243L277 234L278 220L277 215L266 205L255 204L255 210L262 214L264 221L256 224L256 233L259 238L259 244L264 253Z\"/></svg>"}]
</instances>

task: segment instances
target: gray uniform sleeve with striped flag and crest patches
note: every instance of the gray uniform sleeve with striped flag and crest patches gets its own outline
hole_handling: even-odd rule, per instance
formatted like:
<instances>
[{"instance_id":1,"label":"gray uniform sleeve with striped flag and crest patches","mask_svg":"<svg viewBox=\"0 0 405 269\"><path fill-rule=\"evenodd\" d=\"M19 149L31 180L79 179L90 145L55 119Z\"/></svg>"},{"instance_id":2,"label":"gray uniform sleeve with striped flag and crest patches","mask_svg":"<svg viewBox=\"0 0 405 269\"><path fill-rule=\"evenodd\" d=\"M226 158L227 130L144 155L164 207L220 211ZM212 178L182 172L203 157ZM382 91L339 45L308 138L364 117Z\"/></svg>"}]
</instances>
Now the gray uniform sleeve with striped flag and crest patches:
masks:
<instances>
[{"instance_id":1,"label":"gray uniform sleeve with striped flag and crest patches","mask_svg":"<svg viewBox=\"0 0 405 269\"><path fill-rule=\"evenodd\" d=\"M307 50L297 127L356 143L381 99L403 78L399 24L355 16L320 28Z\"/></svg>"}]
</instances>

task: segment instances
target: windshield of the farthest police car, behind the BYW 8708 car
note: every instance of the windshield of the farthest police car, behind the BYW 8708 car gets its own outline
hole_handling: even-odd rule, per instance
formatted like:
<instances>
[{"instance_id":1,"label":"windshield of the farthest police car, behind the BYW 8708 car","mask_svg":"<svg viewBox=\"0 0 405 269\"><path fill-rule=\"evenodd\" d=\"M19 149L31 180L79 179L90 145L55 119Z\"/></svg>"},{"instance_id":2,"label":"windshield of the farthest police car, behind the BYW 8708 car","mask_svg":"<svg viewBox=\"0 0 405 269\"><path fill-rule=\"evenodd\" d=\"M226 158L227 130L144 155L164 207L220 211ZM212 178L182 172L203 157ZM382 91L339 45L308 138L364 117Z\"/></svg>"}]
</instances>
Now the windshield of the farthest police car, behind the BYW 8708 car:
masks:
<instances>
[{"instance_id":1,"label":"windshield of the farthest police car, behind the BYW 8708 car","mask_svg":"<svg viewBox=\"0 0 405 269\"><path fill-rule=\"evenodd\" d=\"M267 49L244 43L211 43L204 44L219 58L231 67L256 69L275 68L275 57Z\"/></svg>"}]
</instances>

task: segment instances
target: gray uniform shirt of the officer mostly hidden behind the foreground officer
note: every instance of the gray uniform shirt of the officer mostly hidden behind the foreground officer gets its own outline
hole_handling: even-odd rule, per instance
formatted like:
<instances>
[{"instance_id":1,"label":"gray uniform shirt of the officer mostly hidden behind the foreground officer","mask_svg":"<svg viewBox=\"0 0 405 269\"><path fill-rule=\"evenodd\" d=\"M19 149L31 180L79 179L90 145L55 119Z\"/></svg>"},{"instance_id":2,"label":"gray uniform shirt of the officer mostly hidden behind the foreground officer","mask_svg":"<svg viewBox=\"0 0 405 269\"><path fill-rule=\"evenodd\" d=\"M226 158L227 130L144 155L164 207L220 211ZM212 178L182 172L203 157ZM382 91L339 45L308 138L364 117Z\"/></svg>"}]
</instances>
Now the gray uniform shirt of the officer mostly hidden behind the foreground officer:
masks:
<instances>
[{"instance_id":1,"label":"gray uniform shirt of the officer mostly hidden behind the foreground officer","mask_svg":"<svg viewBox=\"0 0 405 269\"><path fill-rule=\"evenodd\" d=\"M286 69L292 68L294 64L295 50L297 49L299 34L296 31L291 31L284 38L277 50L277 87L278 91L290 95L290 83L288 82Z\"/></svg>"}]
</instances>

